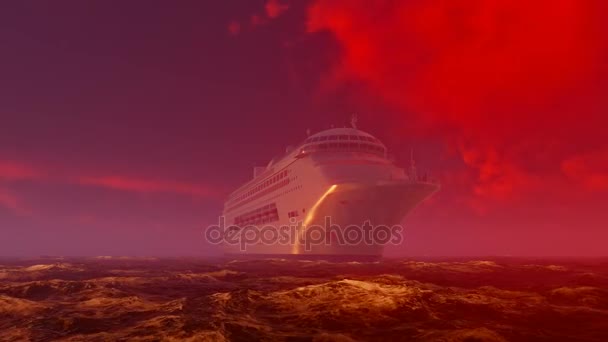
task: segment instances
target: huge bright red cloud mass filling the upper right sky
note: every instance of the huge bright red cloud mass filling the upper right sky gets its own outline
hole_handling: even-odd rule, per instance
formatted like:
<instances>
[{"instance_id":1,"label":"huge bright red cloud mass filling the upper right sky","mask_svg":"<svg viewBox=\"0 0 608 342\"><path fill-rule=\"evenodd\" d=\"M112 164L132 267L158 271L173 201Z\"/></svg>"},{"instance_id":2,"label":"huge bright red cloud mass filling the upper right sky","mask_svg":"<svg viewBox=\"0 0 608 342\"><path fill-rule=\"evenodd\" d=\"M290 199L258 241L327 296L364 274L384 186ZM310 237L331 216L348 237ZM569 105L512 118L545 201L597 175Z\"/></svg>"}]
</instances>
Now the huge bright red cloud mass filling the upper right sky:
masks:
<instances>
[{"instance_id":1,"label":"huge bright red cloud mass filling the upper right sky","mask_svg":"<svg viewBox=\"0 0 608 342\"><path fill-rule=\"evenodd\" d=\"M335 82L362 82L402 109L402 129L457 147L475 193L509 198L571 170L562 163L576 156L608 158L594 154L608 147L607 9L602 0L317 0L308 28L339 43Z\"/></svg>"}]
</instances>

